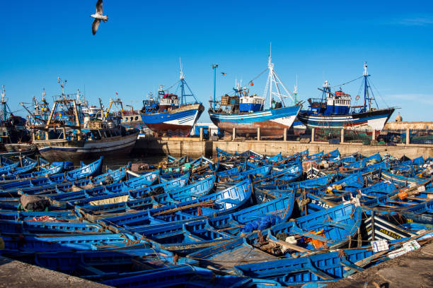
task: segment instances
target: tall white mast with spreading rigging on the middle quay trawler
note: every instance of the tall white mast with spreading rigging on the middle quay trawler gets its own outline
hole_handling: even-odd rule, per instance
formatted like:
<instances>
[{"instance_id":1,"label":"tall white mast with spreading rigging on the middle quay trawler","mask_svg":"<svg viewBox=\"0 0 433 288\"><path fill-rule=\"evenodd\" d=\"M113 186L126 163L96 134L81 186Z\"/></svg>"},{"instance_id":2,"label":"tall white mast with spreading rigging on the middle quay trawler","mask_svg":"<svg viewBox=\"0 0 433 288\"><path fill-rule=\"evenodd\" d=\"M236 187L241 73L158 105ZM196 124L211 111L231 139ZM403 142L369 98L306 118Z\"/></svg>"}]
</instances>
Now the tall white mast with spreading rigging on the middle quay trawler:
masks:
<instances>
[{"instance_id":1,"label":"tall white mast with spreading rigging on the middle quay trawler","mask_svg":"<svg viewBox=\"0 0 433 288\"><path fill-rule=\"evenodd\" d=\"M270 54L267 59L267 68L269 69L269 73L267 76L265 91L263 92L263 97L268 99L269 107L272 108L272 101L274 100L274 96L277 96L279 100L282 102L283 107L285 106L283 98L290 97L292 101L295 102L294 98L291 96L291 92L287 90L286 86L279 80L279 77L274 69L274 64L272 63L272 43L270 46ZM280 86L286 94L282 93ZM275 91L274 91L275 88Z\"/></svg>"}]
</instances>

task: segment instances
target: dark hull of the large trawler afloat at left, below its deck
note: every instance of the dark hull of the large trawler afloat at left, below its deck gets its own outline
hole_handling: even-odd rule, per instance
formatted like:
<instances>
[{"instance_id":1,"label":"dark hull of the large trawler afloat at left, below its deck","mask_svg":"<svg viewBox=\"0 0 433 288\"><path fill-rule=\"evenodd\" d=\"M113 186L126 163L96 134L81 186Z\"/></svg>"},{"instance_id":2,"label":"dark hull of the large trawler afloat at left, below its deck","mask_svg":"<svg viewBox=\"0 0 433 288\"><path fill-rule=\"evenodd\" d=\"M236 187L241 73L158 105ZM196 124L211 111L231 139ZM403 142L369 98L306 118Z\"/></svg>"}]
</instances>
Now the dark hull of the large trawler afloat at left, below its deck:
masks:
<instances>
[{"instance_id":1,"label":"dark hull of the large trawler afloat at left, below its deck","mask_svg":"<svg viewBox=\"0 0 433 288\"><path fill-rule=\"evenodd\" d=\"M40 155L49 161L77 161L100 156L128 155L134 148L138 132L94 141L35 141Z\"/></svg>"}]
</instances>

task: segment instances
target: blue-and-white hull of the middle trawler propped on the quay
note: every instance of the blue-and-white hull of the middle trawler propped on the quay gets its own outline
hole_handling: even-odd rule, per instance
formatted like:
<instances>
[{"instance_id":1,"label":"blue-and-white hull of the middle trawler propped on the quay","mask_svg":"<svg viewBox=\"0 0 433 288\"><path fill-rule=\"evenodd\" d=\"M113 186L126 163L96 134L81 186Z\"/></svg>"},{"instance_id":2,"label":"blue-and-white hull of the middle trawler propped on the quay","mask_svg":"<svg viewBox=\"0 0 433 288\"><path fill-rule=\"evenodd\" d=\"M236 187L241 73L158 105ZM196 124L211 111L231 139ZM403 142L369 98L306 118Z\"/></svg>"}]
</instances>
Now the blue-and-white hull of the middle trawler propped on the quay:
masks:
<instances>
[{"instance_id":1,"label":"blue-and-white hull of the middle trawler propped on the quay","mask_svg":"<svg viewBox=\"0 0 433 288\"><path fill-rule=\"evenodd\" d=\"M249 114L222 114L209 110L209 116L212 122L226 133L231 134L233 128L236 128L236 135L255 135L257 128L260 128L260 136L282 137L284 129L291 127L300 110L300 106L268 109Z\"/></svg>"}]
</instances>

